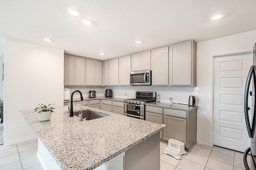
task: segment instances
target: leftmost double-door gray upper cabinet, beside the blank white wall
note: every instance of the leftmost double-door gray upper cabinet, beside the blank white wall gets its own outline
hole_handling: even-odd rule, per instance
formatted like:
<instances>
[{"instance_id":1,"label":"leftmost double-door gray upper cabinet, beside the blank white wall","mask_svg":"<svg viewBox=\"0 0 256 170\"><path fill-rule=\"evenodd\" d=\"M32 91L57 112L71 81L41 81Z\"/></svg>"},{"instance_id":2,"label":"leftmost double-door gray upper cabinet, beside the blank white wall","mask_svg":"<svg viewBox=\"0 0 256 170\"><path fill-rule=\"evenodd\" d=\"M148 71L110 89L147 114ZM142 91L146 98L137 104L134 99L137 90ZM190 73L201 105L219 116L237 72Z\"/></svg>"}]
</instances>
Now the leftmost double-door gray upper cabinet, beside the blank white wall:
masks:
<instances>
[{"instance_id":1,"label":"leftmost double-door gray upper cabinet, beside the blank white wall","mask_svg":"<svg viewBox=\"0 0 256 170\"><path fill-rule=\"evenodd\" d=\"M64 55L64 85L82 85L85 78L84 57Z\"/></svg>"}]
</instances>

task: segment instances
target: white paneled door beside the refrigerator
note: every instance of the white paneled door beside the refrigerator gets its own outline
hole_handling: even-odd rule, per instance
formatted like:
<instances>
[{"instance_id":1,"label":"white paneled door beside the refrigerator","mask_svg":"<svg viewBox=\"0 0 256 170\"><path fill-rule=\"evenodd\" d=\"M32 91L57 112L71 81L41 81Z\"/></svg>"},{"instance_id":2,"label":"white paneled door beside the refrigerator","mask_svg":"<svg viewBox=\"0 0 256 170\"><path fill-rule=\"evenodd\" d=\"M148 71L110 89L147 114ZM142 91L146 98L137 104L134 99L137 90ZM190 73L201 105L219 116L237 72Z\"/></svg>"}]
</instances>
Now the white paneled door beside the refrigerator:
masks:
<instances>
[{"instance_id":1,"label":"white paneled door beside the refrigerator","mask_svg":"<svg viewBox=\"0 0 256 170\"><path fill-rule=\"evenodd\" d=\"M214 145L240 152L250 146L244 89L251 65L251 53L214 58Z\"/></svg>"}]
</instances>

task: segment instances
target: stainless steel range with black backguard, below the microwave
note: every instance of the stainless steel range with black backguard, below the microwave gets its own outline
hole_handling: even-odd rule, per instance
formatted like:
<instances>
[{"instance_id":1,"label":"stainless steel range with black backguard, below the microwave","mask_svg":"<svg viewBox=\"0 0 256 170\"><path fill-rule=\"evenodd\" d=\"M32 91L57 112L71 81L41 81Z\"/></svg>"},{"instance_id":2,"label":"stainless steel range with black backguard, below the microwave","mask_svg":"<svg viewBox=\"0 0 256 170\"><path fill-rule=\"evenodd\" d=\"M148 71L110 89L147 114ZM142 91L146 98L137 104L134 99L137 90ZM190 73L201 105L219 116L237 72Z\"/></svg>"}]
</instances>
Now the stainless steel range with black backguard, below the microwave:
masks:
<instances>
[{"instance_id":1,"label":"stainless steel range with black backguard, below the microwave","mask_svg":"<svg viewBox=\"0 0 256 170\"><path fill-rule=\"evenodd\" d=\"M136 91L135 99L126 99L126 115L136 119L145 120L145 103L155 102L156 92Z\"/></svg>"}]
</instances>

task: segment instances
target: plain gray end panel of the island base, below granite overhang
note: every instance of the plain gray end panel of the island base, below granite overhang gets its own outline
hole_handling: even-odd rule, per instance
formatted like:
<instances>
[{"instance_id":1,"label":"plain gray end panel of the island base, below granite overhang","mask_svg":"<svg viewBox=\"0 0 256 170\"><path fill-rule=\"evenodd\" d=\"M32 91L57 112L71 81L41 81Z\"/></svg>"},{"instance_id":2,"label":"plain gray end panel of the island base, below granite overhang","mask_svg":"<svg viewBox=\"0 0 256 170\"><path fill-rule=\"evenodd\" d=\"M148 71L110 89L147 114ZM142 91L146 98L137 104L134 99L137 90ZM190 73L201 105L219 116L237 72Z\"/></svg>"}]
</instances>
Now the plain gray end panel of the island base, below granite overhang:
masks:
<instances>
[{"instance_id":1,"label":"plain gray end panel of the island base, below granite overhang","mask_svg":"<svg viewBox=\"0 0 256 170\"><path fill-rule=\"evenodd\" d=\"M160 133L128 149L124 156L125 170L160 170Z\"/></svg>"}]
</instances>

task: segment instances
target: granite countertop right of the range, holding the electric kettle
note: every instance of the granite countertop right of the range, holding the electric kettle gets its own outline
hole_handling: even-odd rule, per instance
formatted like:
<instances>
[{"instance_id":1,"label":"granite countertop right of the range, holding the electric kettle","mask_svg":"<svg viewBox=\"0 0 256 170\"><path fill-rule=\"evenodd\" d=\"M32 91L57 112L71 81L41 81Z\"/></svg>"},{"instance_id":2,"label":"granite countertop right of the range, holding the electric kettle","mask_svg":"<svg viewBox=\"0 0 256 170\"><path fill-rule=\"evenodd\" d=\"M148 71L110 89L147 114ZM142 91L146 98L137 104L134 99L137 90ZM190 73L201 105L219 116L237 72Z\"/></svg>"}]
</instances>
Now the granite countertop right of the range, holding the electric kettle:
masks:
<instances>
[{"instance_id":1,"label":"granite countertop right of the range, holding the electric kettle","mask_svg":"<svg viewBox=\"0 0 256 170\"><path fill-rule=\"evenodd\" d=\"M186 110L186 111L190 111L190 110L196 109L198 107L198 106L188 106L188 105L183 105L183 104L172 104L172 103L168 103L168 102L150 102L150 103L146 103L145 105L166 107L168 109L179 109L179 110Z\"/></svg>"}]
</instances>

